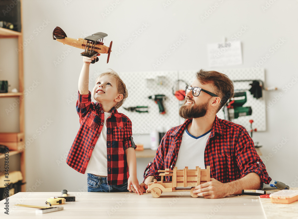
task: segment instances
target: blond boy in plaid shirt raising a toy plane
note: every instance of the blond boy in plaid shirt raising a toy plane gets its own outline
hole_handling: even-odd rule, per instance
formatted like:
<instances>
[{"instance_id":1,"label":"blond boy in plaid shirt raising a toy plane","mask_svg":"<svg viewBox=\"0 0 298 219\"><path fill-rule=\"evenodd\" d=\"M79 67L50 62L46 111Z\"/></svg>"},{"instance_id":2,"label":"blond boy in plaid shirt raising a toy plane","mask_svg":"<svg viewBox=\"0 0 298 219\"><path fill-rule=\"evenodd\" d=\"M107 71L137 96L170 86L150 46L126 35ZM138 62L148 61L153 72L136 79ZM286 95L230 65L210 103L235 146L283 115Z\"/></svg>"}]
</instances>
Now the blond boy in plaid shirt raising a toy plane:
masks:
<instances>
[{"instance_id":1,"label":"blond boy in plaid shirt raising a toy plane","mask_svg":"<svg viewBox=\"0 0 298 219\"><path fill-rule=\"evenodd\" d=\"M117 111L128 95L126 86L113 70L103 73L92 90L96 103L91 102L88 84L92 60L94 57L83 57L77 100L80 129L66 163L87 173L88 192L131 192L132 185L141 195L131 121Z\"/></svg>"}]
</instances>

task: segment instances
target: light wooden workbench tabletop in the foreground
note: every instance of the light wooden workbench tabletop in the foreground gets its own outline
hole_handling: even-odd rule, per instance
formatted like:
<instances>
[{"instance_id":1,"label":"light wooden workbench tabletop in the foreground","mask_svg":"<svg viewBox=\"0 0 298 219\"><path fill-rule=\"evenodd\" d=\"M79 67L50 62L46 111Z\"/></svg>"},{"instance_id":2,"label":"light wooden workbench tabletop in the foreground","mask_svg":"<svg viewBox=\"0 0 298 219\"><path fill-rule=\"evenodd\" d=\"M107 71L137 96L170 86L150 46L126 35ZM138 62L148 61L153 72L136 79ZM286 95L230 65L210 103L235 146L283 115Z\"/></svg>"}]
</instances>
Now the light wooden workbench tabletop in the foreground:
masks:
<instances>
[{"instance_id":1,"label":"light wooden workbench tabletop in the foreground","mask_svg":"<svg viewBox=\"0 0 298 219\"><path fill-rule=\"evenodd\" d=\"M159 198L153 198L150 193L138 195L131 192L68 192L75 196L75 202L66 202L62 211L45 214L35 214L35 208L14 206L15 204L46 206L47 198L61 196L60 192L19 192L9 197L9 216L4 214L4 202L0 201L1 218L266 218L270 199L262 201L259 196L240 195L220 199L192 198L190 192L163 192ZM268 203L269 201L269 203ZM268 203L268 205L267 205ZM291 204L274 204L292 209L284 210L279 218L298 218L298 201ZM293 208L294 207L294 208ZM296 213L295 209L296 207ZM272 209L272 208L271 208ZM271 215L272 216L272 215ZM267 219L275 218L267 217ZM294 216L294 217L293 217Z\"/></svg>"}]
</instances>

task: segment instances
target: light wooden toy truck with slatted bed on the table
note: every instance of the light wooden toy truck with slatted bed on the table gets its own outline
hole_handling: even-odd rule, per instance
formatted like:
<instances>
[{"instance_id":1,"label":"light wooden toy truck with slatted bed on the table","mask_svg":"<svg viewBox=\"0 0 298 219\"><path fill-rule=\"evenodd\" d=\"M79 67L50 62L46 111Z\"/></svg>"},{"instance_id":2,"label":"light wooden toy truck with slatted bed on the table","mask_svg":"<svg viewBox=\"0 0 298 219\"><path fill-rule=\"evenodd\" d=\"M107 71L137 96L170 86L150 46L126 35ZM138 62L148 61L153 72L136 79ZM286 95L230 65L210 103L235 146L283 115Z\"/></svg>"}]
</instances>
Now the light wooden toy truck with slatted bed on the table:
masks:
<instances>
[{"instance_id":1,"label":"light wooden toy truck with slatted bed on the table","mask_svg":"<svg viewBox=\"0 0 298 219\"><path fill-rule=\"evenodd\" d=\"M190 191L190 195L197 198L197 194L193 194L194 186L206 183L210 181L210 166L207 169L201 169L196 166L196 169L188 169L186 166L184 169L177 169L175 166L173 170L165 169L159 170L161 172L161 181L154 180L152 183L148 183L148 189L146 193L151 192L154 198L158 198L162 192L185 192ZM172 182L165 182L164 176L172 176ZM184 187L184 188L176 188ZM192 187L191 189L185 187Z\"/></svg>"}]
</instances>

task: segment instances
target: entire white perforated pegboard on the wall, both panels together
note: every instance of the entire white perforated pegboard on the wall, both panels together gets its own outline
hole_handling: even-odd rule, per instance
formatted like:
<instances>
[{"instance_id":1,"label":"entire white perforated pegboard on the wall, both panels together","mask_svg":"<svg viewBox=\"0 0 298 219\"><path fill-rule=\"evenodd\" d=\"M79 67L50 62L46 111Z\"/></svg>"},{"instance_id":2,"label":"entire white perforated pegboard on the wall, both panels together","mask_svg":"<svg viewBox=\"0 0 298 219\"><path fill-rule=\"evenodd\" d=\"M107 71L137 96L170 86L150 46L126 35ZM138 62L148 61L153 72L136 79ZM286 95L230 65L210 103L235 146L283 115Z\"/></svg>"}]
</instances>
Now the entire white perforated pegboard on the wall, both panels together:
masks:
<instances>
[{"instance_id":1,"label":"entire white perforated pegboard on the wall, both panels together","mask_svg":"<svg viewBox=\"0 0 298 219\"><path fill-rule=\"evenodd\" d=\"M216 70L226 74L231 80L261 80L265 83L265 73L263 69L223 69ZM179 101L172 92L172 87L178 79L182 79L191 84L195 80L194 71L164 71L164 72L125 72L120 73L128 89L128 98L124 104L119 107L118 112L122 112L132 121L132 131L134 135L149 134L152 130L166 132L168 129L180 125L184 119L179 116L179 108L184 101ZM162 83L160 83L162 81ZM233 119L233 122L243 125L250 130L249 120L253 120L253 129L257 131L266 131L266 105L265 92L263 97L256 99L248 91L252 81L234 82L235 90L247 90L247 102L244 107L252 107L252 115L242 116ZM182 86L183 85L183 86ZM184 89L185 85L179 85L178 89ZM175 90L177 87L175 86ZM163 102L166 113L159 114L158 105L148 97L151 95L164 94L166 100ZM148 113L130 112L123 107L148 106ZM224 119L224 112L221 109L217 116Z\"/></svg>"}]
</instances>

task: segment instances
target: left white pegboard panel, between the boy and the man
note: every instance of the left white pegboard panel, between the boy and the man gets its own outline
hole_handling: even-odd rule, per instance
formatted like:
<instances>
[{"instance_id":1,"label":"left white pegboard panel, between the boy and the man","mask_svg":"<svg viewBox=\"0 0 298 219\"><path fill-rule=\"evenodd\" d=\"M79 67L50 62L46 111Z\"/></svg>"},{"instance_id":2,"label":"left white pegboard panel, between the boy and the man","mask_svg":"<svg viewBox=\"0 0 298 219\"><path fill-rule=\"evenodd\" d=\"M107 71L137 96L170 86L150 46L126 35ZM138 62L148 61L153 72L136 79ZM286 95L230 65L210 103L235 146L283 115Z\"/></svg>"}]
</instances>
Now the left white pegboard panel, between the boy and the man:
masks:
<instances>
[{"instance_id":1,"label":"left white pegboard panel, between the boy and the man","mask_svg":"<svg viewBox=\"0 0 298 219\"><path fill-rule=\"evenodd\" d=\"M153 130L166 132L179 125L180 101L172 93L173 84L178 79L178 71L125 72L119 76L128 89L128 98L119 107L118 112L130 118L134 135L148 134ZM158 105L148 98L157 94L166 96L163 101L165 114L160 114ZM148 106L149 112L130 112L123 108L136 106Z\"/></svg>"}]
</instances>

